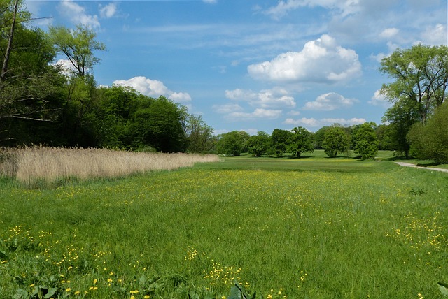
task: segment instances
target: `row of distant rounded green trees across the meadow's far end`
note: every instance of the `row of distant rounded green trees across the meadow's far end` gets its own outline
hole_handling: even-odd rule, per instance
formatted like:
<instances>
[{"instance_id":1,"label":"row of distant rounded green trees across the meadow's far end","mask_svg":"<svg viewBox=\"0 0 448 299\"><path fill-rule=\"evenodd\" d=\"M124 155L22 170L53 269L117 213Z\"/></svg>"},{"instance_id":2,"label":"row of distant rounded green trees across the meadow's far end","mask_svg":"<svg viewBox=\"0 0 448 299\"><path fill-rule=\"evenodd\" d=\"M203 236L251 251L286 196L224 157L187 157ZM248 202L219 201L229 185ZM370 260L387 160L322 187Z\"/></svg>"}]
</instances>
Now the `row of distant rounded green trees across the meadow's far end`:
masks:
<instances>
[{"instance_id":1,"label":"row of distant rounded green trees across the meadow's far end","mask_svg":"<svg viewBox=\"0 0 448 299\"><path fill-rule=\"evenodd\" d=\"M244 131L232 131L218 135L216 152L229 156L239 156L241 152L253 156L288 154L300 158L314 149L323 149L330 157L348 154L353 149L363 159L374 159L379 150L379 128L374 123L346 127L333 124L312 133L297 126L290 131L274 129L270 136L265 132L249 136Z\"/></svg>"}]
</instances>

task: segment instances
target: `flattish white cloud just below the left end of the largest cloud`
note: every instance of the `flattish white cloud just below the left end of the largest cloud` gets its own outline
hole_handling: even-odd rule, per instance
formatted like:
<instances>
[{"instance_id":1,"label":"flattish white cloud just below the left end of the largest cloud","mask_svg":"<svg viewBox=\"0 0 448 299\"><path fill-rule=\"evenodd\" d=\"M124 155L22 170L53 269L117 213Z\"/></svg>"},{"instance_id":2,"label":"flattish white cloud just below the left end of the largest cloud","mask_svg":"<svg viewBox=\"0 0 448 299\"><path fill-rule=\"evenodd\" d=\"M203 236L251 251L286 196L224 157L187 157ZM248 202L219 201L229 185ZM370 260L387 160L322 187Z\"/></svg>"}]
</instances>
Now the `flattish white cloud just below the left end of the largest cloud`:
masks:
<instances>
[{"instance_id":1,"label":"flattish white cloud just below the left end of the largest cloud","mask_svg":"<svg viewBox=\"0 0 448 299\"><path fill-rule=\"evenodd\" d=\"M232 101L247 101L253 107L260 108L295 108L293 96L288 96L286 89L275 87L260 92L235 89L226 90L225 96Z\"/></svg>"}]
</instances>

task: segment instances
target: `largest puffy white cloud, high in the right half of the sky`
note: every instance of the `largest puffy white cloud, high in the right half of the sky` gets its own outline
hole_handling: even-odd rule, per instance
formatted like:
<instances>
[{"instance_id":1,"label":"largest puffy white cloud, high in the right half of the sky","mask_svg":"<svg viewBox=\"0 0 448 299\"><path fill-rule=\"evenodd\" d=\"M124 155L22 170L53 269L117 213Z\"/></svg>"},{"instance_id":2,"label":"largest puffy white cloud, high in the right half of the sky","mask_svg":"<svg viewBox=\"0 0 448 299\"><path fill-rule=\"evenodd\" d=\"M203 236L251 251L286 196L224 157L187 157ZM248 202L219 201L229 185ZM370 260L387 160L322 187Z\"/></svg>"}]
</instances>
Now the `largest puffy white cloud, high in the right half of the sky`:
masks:
<instances>
[{"instance_id":1,"label":"largest puffy white cloud, high in the right half of the sky","mask_svg":"<svg viewBox=\"0 0 448 299\"><path fill-rule=\"evenodd\" d=\"M252 78L274 82L346 82L361 75L361 64L354 50L337 45L324 34L309 41L301 52L279 54L271 61L248 66Z\"/></svg>"}]
</instances>

